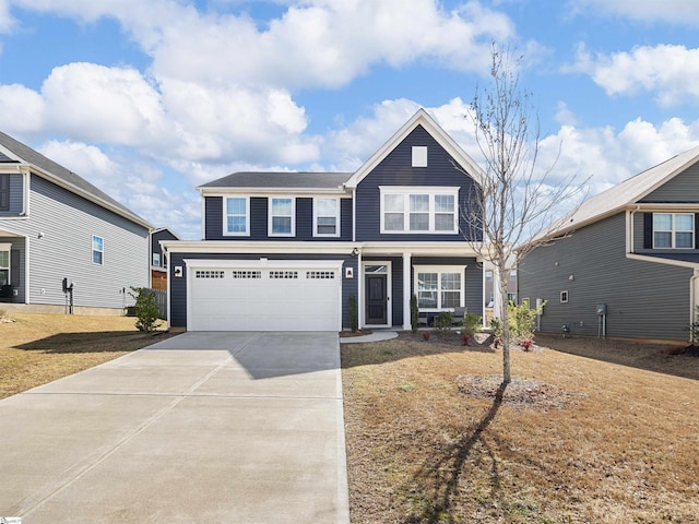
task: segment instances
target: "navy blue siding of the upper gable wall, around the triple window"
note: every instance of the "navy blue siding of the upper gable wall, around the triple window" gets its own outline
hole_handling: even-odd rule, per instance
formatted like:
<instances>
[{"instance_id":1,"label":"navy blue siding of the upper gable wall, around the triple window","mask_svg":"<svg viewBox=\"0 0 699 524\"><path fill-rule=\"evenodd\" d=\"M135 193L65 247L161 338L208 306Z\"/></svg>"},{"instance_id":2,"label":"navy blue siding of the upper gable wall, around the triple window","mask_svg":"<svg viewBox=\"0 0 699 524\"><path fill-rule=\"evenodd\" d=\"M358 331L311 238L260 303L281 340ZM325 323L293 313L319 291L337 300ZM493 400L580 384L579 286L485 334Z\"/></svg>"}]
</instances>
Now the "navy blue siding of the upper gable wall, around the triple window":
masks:
<instances>
[{"instance_id":1,"label":"navy blue siding of the upper gable wall, around the triple window","mask_svg":"<svg viewBox=\"0 0 699 524\"><path fill-rule=\"evenodd\" d=\"M427 167L412 167L412 147L427 146ZM469 225L463 206L477 190L472 178L455 167L455 160L418 126L357 187L356 228L358 241L463 241ZM459 225L462 233L452 235L381 234L379 186L460 187ZM469 240L481 240L476 231Z\"/></svg>"}]
</instances>

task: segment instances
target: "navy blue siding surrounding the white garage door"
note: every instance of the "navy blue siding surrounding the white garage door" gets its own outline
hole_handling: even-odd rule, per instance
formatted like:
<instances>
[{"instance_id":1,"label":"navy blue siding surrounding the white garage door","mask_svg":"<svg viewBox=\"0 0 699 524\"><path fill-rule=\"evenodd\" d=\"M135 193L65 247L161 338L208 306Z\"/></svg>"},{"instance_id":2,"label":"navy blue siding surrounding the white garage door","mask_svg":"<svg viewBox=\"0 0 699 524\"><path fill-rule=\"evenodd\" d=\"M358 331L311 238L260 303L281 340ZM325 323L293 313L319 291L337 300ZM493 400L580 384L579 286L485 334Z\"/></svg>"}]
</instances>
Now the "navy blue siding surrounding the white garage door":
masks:
<instances>
[{"instance_id":1,"label":"navy blue siding surrounding the white garage door","mask_svg":"<svg viewBox=\"0 0 699 524\"><path fill-rule=\"evenodd\" d=\"M269 260L309 260L307 254L269 254L269 253L246 253L246 254L227 254L227 253L170 253L170 325L185 327L187 326L187 266L185 259L205 259L205 260L260 260L266 258ZM358 278L345 278L345 269L352 267L354 275L358 275L357 259L351 255L333 255L333 254L316 254L312 260L342 260L342 326L350 327L350 295L357 295ZM182 277L175 277L175 266L181 266ZM274 319L270 319L274 322Z\"/></svg>"}]
</instances>

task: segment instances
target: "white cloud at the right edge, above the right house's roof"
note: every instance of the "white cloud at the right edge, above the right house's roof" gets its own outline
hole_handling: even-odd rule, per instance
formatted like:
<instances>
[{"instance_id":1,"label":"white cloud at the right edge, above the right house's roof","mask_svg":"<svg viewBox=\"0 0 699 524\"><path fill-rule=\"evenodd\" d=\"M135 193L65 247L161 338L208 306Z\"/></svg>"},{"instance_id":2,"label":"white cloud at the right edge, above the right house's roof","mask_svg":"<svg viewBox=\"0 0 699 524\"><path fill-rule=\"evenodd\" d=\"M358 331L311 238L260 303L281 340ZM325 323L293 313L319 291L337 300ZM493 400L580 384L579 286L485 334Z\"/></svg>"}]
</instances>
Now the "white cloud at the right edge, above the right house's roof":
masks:
<instances>
[{"instance_id":1,"label":"white cloud at the right edge, above the right house's roof","mask_svg":"<svg viewBox=\"0 0 699 524\"><path fill-rule=\"evenodd\" d=\"M580 46L576 64L567 70L589 74L608 95L645 91L655 93L662 106L699 99L699 49L685 46L641 46L594 57Z\"/></svg>"}]
</instances>

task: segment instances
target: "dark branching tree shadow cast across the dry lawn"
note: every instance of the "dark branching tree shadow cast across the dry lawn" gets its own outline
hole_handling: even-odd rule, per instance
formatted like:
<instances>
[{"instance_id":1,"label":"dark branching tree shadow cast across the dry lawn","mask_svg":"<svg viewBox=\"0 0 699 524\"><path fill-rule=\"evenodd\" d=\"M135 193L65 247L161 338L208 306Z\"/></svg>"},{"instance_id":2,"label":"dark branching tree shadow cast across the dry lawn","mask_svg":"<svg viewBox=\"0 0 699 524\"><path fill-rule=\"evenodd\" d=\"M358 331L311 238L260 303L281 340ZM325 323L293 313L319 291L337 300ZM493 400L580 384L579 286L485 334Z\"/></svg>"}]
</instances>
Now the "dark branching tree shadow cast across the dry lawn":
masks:
<instances>
[{"instance_id":1,"label":"dark branching tree shadow cast across the dry lawn","mask_svg":"<svg viewBox=\"0 0 699 524\"><path fill-rule=\"evenodd\" d=\"M459 493L461 478L466 473L464 469L466 461L471 457L477 443L486 450L486 455L490 460L490 485L494 490L498 489L500 475L497 458L482 436L502 405L503 395L505 388L500 385L493 400L493 405L473 432L465 431L457 442L447 448L441 457L429 460L414 475L411 498L418 501L420 511L407 516L403 521L405 524L455 522L452 513L454 499Z\"/></svg>"}]
</instances>

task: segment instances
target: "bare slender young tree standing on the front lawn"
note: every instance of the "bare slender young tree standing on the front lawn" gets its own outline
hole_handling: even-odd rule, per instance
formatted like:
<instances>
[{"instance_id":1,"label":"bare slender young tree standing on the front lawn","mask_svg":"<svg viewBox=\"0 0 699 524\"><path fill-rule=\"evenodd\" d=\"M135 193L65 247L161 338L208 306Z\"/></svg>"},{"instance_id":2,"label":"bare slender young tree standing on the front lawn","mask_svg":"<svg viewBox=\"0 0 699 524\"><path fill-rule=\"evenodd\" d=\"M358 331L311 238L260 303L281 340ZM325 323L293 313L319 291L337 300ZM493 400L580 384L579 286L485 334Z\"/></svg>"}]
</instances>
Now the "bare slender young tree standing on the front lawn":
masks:
<instances>
[{"instance_id":1,"label":"bare slender young tree standing on the front lawn","mask_svg":"<svg viewBox=\"0 0 699 524\"><path fill-rule=\"evenodd\" d=\"M467 230L463 233L473 249L493 263L498 276L505 388L511 381L506 300L509 272L542 243L536 240L537 231L548 231L560 223L554 221L559 204L571 198L580 200L581 187L573 184L574 175L553 180L555 160L544 170L537 167L541 130L532 94L520 87L522 57L494 44L491 59L491 83L483 92L476 88L470 114L486 177L467 196L464 206Z\"/></svg>"}]
</instances>

